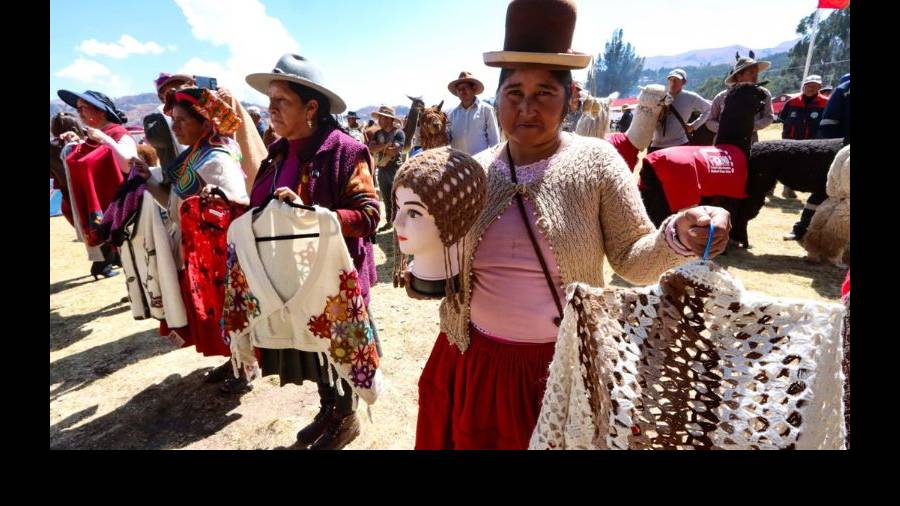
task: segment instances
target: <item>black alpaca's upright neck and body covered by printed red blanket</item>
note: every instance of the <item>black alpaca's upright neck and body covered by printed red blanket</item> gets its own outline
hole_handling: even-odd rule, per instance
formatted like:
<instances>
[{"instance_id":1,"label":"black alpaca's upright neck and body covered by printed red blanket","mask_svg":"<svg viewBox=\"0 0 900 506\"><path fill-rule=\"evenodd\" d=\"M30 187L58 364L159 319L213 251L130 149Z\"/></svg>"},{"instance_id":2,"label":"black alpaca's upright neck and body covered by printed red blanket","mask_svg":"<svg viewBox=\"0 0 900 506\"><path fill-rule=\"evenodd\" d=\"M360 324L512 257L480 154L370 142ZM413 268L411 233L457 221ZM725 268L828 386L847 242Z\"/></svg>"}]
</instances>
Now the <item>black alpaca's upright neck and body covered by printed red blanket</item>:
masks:
<instances>
[{"instance_id":1,"label":"black alpaca's upright neck and body covered by printed red blanket","mask_svg":"<svg viewBox=\"0 0 900 506\"><path fill-rule=\"evenodd\" d=\"M644 157L639 186L653 223L699 204L738 212L747 196L753 118L765 98L760 85L735 85L725 98L715 146L677 146Z\"/></svg>"}]
</instances>

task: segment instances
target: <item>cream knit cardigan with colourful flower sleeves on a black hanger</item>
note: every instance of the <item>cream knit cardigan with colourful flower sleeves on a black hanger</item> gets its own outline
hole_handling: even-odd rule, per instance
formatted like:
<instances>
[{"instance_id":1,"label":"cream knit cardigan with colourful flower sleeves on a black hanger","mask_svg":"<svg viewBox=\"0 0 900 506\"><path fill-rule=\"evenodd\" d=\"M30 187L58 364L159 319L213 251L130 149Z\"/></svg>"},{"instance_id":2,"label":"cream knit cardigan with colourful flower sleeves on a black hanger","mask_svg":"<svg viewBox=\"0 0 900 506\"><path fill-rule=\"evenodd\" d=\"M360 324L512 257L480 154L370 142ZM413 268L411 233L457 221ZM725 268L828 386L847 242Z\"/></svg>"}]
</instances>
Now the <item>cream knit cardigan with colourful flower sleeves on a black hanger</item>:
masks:
<instances>
[{"instance_id":1,"label":"cream knit cardigan with colourful flower sleeves on a black hanger","mask_svg":"<svg viewBox=\"0 0 900 506\"><path fill-rule=\"evenodd\" d=\"M255 218L255 219L254 219ZM257 238L319 234L257 243ZM228 230L223 333L235 368L256 362L253 347L319 354L368 404L382 386L379 357L359 275L337 215L273 200ZM343 395L341 382L329 378Z\"/></svg>"}]
</instances>

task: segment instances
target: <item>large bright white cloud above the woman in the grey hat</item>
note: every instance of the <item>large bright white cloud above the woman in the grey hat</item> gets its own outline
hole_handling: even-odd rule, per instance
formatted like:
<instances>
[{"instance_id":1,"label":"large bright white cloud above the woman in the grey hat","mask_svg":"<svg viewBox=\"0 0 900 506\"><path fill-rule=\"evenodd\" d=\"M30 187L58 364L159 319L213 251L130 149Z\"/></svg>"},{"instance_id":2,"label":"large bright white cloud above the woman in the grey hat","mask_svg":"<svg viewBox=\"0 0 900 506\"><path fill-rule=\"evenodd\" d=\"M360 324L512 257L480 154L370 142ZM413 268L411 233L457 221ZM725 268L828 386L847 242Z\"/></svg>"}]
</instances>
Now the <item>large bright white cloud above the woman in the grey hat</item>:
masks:
<instances>
[{"instance_id":1,"label":"large bright white cloud above the woman in the grey hat","mask_svg":"<svg viewBox=\"0 0 900 506\"><path fill-rule=\"evenodd\" d=\"M258 0L175 0L198 40L228 49L223 63L192 58L182 70L208 75L230 88L242 100L262 102L264 97L244 78L266 72L284 53L296 53L300 44L284 25L266 14ZM200 70L192 70L192 69Z\"/></svg>"}]
</instances>

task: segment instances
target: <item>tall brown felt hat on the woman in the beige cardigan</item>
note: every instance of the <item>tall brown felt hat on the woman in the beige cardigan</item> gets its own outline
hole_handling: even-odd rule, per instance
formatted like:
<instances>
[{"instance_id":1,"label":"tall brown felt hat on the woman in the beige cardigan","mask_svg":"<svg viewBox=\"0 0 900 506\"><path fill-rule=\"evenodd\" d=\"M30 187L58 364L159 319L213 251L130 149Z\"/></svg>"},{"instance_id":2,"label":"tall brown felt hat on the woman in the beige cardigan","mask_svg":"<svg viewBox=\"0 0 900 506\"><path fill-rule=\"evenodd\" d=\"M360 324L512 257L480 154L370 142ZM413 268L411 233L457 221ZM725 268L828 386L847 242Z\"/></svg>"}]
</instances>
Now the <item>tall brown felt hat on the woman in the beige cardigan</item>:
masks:
<instances>
[{"instance_id":1,"label":"tall brown felt hat on the woman in the beige cardigan","mask_svg":"<svg viewBox=\"0 0 900 506\"><path fill-rule=\"evenodd\" d=\"M484 64L502 68L583 69L591 56L572 51L575 0L513 0L506 9L503 51L484 53Z\"/></svg>"}]
</instances>

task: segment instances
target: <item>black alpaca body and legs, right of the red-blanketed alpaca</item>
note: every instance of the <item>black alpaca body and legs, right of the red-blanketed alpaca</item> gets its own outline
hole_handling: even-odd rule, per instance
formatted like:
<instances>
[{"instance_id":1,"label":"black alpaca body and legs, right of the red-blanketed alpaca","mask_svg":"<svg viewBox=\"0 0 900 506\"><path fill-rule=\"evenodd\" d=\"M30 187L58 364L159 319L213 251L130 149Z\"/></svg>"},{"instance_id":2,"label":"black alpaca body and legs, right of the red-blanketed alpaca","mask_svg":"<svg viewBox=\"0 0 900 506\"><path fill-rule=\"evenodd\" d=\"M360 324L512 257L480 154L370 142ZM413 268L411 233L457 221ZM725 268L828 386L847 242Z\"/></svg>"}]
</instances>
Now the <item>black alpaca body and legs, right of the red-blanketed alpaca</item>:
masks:
<instances>
[{"instance_id":1,"label":"black alpaca body and legs, right of the red-blanketed alpaca","mask_svg":"<svg viewBox=\"0 0 900 506\"><path fill-rule=\"evenodd\" d=\"M753 144L747 173L747 198L732 215L731 238L742 248L750 246L748 224L759 215L766 194L776 182L811 194L801 221L811 219L818 204L828 198L825 188L828 169L843 146L842 139L785 139Z\"/></svg>"}]
</instances>

